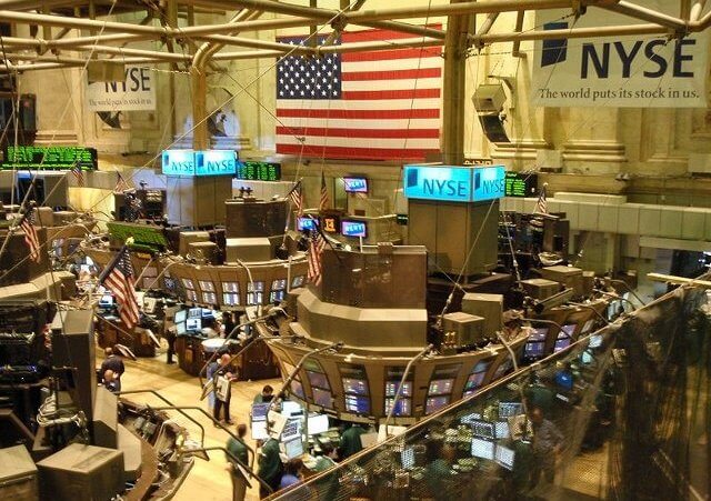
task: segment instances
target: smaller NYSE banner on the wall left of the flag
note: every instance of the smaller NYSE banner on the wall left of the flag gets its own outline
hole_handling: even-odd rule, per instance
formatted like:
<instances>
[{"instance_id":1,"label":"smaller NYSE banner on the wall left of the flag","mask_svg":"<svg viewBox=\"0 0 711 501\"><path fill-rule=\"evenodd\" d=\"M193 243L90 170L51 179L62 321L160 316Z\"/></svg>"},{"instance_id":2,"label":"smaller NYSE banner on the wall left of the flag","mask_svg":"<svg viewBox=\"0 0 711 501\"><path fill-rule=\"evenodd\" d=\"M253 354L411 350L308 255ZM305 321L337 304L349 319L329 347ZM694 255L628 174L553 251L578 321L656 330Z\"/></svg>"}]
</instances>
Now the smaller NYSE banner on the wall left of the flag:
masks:
<instances>
[{"instance_id":1,"label":"smaller NYSE banner on the wall left of the flag","mask_svg":"<svg viewBox=\"0 0 711 501\"><path fill-rule=\"evenodd\" d=\"M89 111L153 111L156 80L153 72L139 66L127 66L122 82L87 83Z\"/></svg>"}]
</instances>

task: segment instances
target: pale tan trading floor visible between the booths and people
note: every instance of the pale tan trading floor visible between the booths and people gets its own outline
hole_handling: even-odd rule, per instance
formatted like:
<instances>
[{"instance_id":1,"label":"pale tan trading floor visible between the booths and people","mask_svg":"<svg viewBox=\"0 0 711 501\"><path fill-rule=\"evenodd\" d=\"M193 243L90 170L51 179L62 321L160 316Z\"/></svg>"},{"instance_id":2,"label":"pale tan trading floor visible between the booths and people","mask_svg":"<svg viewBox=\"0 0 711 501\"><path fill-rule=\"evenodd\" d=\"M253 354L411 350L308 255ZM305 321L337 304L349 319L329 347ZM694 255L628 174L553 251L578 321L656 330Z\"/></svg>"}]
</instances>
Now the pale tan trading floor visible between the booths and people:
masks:
<instances>
[{"instance_id":1,"label":"pale tan trading floor visible between the booths and people","mask_svg":"<svg viewBox=\"0 0 711 501\"><path fill-rule=\"evenodd\" d=\"M271 383L279 387L278 380L237 382L232 385L231 413L232 420L249 422L249 409L253 397L261 388ZM166 364L166 357L161 354L156 359L138 359L133 362L126 361L126 373L122 378L122 389L128 390L156 390L174 405L201 407L208 409L207 400L200 401L200 383L198 378L186 374L178 364ZM150 405L164 405L150 393L127 397L137 403ZM199 411L188 411L204 427L206 447L223 447L228 435L219 428L214 428L209 419ZM200 439L200 430L190 420L178 412L170 412L171 419L179 422L190 431L192 439ZM250 439L248 433L248 439ZM254 445L250 439L247 443ZM176 495L177 501L226 501L232 497L232 485L229 473L226 471L224 454L220 451L210 452L210 461L196 459L194 467L186 482ZM251 489L247 494L248 500L259 499L258 490Z\"/></svg>"}]
</instances>

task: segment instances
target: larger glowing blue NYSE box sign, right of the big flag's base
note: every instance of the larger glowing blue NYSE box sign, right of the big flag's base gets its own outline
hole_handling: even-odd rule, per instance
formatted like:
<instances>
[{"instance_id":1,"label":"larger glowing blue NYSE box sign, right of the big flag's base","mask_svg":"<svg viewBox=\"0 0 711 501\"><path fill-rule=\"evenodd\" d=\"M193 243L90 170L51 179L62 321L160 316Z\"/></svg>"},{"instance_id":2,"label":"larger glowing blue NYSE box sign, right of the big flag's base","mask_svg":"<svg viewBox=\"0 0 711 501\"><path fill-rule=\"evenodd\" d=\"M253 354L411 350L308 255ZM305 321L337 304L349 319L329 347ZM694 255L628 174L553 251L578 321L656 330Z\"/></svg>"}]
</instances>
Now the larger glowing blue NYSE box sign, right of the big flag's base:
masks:
<instances>
[{"instance_id":1,"label":"larger glowing blue NYSE box sign, right of the big flag's base","mask_svg":"<svg viewBox=\"0 0 711 501\"><path fill-rule=\"evenodd\" d=\"M449 202L480 202L504 196L505 170L495 167L405 166L404 196Z\"/></svg>"}]
</instances>

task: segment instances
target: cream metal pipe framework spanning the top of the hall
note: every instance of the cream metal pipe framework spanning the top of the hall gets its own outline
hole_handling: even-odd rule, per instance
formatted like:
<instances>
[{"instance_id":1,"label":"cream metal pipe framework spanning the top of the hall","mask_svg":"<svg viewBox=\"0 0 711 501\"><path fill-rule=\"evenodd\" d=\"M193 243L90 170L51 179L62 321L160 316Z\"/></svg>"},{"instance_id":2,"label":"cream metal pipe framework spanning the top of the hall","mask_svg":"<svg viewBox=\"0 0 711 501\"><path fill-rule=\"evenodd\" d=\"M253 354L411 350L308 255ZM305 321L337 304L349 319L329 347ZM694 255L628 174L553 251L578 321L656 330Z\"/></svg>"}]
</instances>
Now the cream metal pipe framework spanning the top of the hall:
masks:
<instances>
[{"instance_id":1,"label":"cream metal pipe framework spanning the top of the hall","mask_svg":"<svg viewBox=\"0 0 711 501\"><path fill-rule=\"evenodd\" d=\"M121 11L147 11L140 23L118 22L101 19L113 1ZM79 6L78 6L79 3ZM311 2L314 6L317 2ZM352 6L350 4L352 3ZM414 18L469 17L475 24L475 14L483 14L478 29L468 33L468 43L477 48L499 42L514 42L514 52L520 42L554 38L595 38L624 34L662 34L683 37L702 31L711 26L711 12L702 16L705 0L680 0L678 17L664 14L627 0L479 0L454 1L428 7L365 9L367 1L349 2L341 0L340 11L317 7L302 7L276 0L167 0L160 6L128 0L87 0L71 2L67 0L43 1L0 1L0 22L17 26L41 27L33 38L2 37L3 64L0 71L16 72L42 69L78 67L92 60L101 60L99 54L120 57L127 63L183 63L202 71L211 61L238 59L276 58L284 53L322 54L357 52L361 50L391 50L394 47L434 47L442 46L447 32L440 29L424 28L401 20ZM607 9L625 14L632 19L645 21L642 24L621 24L604 28L573 28L571 30L532 30L521 32L527 12L542 9L571 9L571 13L584 14L585 9ZM202 10L200 10L202 9ZM220 9L226 13L234 12L230 22L220 24L196 24L196 11L209 12ZM238 9L236 11L236 9ZM84 10L89 19L80 17ZM73 16L68 14L73 12ZM42 12L42 13L39 13ZM273 19L258 19L263 12L277 14ZM513 31L492 33L491 29L502 12L518 12ZM182 13L182 16L181 16ZM178 18L184 17L188 26L179 27ZM318 46L294 48L277 41L239 37L263 30L277 30L296 27L310 27L314 32L317 24L330 24L340 31L348 24L381 28L412 34L412 39L399 39L387 42L358 42L332 44L333 37ZM51 37L51 28L61 28L59 34ZM69 37L69 30L88 30L89 36ZM102 31L102 34L96 34ZM13 30L14 31L14 30ZM124 46L146 40L162 40L167 50L146 50ZM187 43L189 42L189 43ZM199 42L199 43L197 43ZM186 51L174 51L173 43L186 46ZM236 46L252 50L220 51L224 46ZM67 53L69 52L69 53Z\"/></svg>"}]
</instances>

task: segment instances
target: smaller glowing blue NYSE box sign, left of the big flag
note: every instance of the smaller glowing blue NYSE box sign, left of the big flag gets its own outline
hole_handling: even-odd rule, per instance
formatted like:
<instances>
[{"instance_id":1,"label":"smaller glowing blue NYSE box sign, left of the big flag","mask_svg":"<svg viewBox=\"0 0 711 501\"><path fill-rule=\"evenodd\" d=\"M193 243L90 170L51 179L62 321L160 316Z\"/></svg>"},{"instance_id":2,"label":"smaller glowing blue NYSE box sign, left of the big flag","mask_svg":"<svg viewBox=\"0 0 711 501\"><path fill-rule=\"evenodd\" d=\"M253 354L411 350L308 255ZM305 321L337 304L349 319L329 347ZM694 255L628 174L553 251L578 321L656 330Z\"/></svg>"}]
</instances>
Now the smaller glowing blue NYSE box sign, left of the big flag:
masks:
<instances>
[{"instance_id":1,"label":"smaller glowing blue NYSE box sign, left of the big flag","mask_svg":"<svg viewBox=\"0 0 711 501\"><path fill-rule=\"evenodd\" d=\"M164 150L161 170L166 176L233 176L237 151Z\"/></svg>"}]
</instances>

